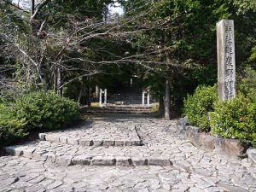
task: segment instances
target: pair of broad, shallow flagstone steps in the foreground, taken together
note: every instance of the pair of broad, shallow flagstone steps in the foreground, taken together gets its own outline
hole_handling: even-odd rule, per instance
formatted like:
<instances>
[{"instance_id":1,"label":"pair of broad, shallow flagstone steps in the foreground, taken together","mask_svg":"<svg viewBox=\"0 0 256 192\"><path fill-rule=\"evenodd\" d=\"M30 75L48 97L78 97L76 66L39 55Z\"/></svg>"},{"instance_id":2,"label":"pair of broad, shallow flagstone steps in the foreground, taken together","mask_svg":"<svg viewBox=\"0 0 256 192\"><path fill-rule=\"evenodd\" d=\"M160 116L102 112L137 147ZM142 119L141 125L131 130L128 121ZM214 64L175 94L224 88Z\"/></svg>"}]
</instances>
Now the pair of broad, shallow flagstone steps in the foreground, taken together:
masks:
<instances>
[{"instance_id":1,"label":"pair of broad, shallow flagstone steps in the foreground, taken together","mask_svg":"<svg viewBox=\"0 0 256 192\"><path fill-rule=\"evenodd\" d=\"M61 166L172 166L171 151L144 145L132 121L94 120L65 131L39 134L30 143L5 148L8 154Z\"/></svg>"}]
</instances>

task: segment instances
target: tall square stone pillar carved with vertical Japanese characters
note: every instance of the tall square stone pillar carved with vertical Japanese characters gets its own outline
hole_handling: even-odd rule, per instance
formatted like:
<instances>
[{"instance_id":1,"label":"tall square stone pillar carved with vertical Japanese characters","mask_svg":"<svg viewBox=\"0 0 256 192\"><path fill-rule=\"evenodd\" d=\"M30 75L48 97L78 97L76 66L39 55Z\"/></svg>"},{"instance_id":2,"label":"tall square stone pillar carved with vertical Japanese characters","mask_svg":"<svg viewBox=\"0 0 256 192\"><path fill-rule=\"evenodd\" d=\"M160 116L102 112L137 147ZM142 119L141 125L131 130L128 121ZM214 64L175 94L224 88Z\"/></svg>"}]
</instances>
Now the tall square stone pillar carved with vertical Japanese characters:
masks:
<instances>
[{"instance_id":1,"label":"tall square stone pillar carved with vertical Japanese characters","mask_svg":"<svg viewBox=\"0 0 256 192\"><path fill-rule=\"evenodd\" d=\"M217 23L218 98L222 101L236 97L236 61L234 20Z\"/></svg>"}]
</instances>

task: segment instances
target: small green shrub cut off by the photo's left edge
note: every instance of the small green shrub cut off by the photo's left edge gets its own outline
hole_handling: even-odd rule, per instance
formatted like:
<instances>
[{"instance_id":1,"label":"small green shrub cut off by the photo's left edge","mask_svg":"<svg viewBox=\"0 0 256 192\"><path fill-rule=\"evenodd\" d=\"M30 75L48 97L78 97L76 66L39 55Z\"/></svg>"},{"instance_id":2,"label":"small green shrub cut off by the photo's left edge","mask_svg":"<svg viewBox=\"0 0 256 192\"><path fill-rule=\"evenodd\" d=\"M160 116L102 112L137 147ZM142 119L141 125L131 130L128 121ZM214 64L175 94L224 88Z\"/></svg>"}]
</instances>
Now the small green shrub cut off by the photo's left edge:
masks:
<instances>
[{"instance_id":1,"label":"small green shrub cut off by the photo's left edge","mask_svg":"<svg viewBox=\"0 0 256 192\"><path fill-rule=\"evenodd\" d=\"M0 108L0 147L25 137L26 122L24 119L18 119L14 111L9 106Z\"/></svg>"}]
</instances>

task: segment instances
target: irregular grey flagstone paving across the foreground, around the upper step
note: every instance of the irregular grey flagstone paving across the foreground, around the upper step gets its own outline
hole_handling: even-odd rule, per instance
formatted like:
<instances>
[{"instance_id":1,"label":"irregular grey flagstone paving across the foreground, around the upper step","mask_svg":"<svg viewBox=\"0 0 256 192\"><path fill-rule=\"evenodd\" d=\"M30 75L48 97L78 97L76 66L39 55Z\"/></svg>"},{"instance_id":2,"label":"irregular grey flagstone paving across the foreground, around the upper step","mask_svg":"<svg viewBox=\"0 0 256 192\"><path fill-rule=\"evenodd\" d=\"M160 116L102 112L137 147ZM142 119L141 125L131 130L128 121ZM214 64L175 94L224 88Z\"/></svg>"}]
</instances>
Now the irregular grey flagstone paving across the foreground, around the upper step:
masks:
<instances>
[{"instance_id":1,"label":"irregular grey flagstone paving across the foreground, around the upper step","mask_svg":"<svg viewBox=\"0 0 256 192\"><path fill-rule=\"evenodd\" d=\"M108 127L112 125L109 122L134 126L144 145L97 147L49 141L30 143L29 148L24 145L26 150L20 150L25 153L17 150L16 155L23 156L0 157L0 191L256 191L255 166L247 159L228 159L195 148L179 133L176 120L114 117L98 119L95 123L104 124L103 132L112 129L113 126ZM32 155L39 149L46 150L45 154L54 154L52 159L44 161L42 154L38 154L41 155L38 159ZM71 156L73 160L77 155L91 155L92 166L64 166L63 161L57 160L61 156ZM101 161L99 157L113 160L109 158L112 156L115 160L119 157L131 160L120 158L111 166L92 163L95 157ZM141 158L148 160L149 165L154 158L162 162L170 160L170 165L132 163ZM125 162L129 164L123 164Z\"/></svg>"}]
</instances>

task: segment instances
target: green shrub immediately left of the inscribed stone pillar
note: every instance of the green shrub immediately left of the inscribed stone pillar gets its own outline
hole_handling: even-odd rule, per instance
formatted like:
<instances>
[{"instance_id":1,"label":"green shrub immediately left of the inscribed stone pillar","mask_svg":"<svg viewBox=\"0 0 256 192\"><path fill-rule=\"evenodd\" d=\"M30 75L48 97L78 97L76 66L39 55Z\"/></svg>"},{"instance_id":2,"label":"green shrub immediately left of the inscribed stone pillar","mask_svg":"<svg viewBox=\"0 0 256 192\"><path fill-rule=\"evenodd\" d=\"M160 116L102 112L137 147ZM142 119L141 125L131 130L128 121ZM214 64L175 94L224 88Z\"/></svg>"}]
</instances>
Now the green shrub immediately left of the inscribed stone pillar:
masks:
<instances>
[{"instance_id":1,"label":"green shrub immediately left of the inscribed stone pillar","mask_svg":"<svg viewBox=\"0 0 256 192\"><path fill-rule=\"evenodd\" d=\"M188 116L191 125L199 126L203 131L209 131L210 125L207 112L213 111L213 102L218 101L217 85L200 85L194 95L184 99L183 113Z\"/></svg>"}]
</instances>

